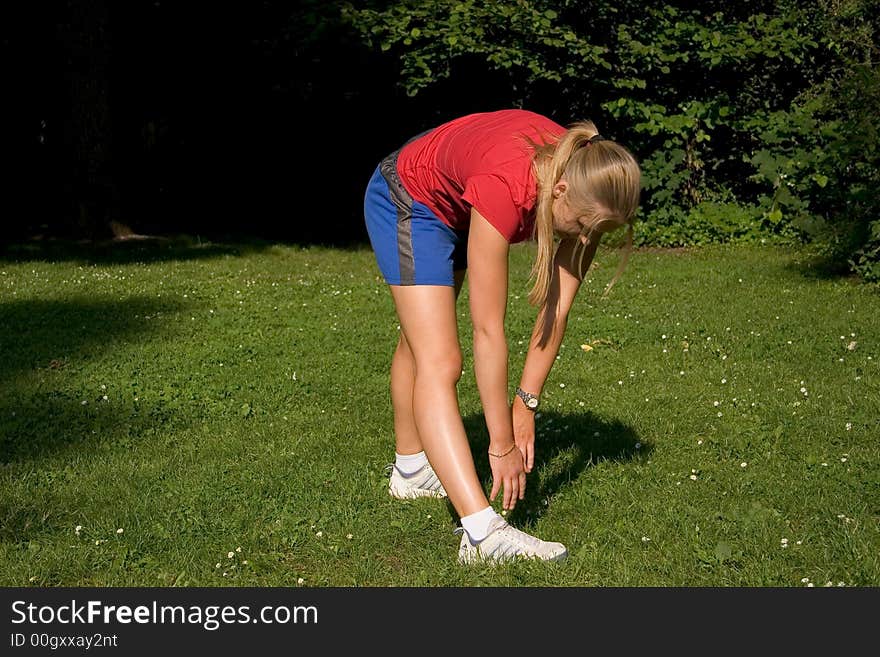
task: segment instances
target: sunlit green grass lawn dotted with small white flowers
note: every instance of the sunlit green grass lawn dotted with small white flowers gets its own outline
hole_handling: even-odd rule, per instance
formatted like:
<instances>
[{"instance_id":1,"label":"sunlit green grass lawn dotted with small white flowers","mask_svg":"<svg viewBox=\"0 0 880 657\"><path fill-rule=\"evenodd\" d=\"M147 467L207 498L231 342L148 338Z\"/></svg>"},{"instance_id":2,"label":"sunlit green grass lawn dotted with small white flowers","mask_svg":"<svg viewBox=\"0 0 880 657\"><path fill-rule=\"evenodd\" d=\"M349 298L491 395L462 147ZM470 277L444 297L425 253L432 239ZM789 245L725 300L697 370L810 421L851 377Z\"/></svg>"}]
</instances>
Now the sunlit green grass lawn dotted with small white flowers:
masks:
<instances>
[{"instance_id":1,"label":"sunlit green grass lawn dotted with small white flowers","mask_svg":"<svg viewBox=\"0 0 880 657\"><path fill-rule=\"evenodd\" d=\"M880 585L876 289L726 247L637 252L602 300L616 262L600 252L572 311L509 516L570 556L464 568L447 502L387 494L397 322L369 249L7 249L0 583Z\"/></svg>"}]
</instances>

